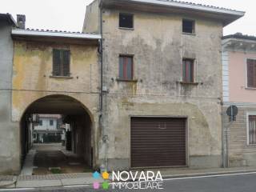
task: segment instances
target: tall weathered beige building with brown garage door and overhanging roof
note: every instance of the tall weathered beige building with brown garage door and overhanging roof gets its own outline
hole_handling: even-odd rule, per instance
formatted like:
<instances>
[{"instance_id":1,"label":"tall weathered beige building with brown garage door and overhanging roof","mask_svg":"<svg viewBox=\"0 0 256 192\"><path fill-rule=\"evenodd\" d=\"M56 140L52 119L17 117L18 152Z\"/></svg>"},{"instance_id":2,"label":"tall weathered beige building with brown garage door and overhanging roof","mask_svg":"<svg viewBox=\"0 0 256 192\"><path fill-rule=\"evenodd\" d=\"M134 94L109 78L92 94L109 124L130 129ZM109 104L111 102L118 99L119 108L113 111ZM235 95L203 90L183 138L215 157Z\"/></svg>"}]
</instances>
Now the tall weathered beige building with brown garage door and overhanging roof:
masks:
<instances>
[{"instance_id":1,"label":"tall weathered beige building with brown garage door and overhanging roof","mask_svg":"<svg viewBox=\"0 0 256 192\"><path fill-rule=\"evenodd\" d=\"M84 32L102 34L102 164L222 166L222 28L243 14L156 0L87 6Z\"/></svg>"}]
</instances>

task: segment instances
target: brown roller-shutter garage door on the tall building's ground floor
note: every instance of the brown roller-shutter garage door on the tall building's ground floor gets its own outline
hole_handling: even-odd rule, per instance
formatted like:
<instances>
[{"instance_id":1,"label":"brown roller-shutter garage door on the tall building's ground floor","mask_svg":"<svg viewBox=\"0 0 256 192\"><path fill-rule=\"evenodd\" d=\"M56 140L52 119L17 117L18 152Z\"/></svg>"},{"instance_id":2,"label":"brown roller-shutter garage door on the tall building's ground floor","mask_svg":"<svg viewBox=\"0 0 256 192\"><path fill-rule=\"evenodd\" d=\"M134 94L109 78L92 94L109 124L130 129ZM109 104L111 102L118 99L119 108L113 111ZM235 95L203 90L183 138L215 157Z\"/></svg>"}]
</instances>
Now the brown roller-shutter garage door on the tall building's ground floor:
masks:
<instances>
[{"instance_id":1,"label":"brown roller-shutter garage door on the tall building's ground floor","mask_svg":"<svg viewBox=\"0 0 256 192\"><path fill-rule=\"evenodd\" d=\"M186 118L131 118L130 166L186 166Z\"/></svg>"}]
</instances>

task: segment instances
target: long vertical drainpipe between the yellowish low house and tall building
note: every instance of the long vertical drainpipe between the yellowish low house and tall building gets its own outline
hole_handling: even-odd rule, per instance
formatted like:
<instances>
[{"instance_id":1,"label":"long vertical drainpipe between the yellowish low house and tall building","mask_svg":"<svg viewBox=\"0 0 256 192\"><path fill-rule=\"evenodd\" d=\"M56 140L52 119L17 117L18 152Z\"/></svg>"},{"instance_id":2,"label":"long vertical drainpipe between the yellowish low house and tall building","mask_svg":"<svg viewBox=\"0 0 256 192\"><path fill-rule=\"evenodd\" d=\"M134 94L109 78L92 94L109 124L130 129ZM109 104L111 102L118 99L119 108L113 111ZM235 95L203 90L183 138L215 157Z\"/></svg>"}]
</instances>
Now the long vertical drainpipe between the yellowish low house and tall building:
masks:
<instances>
[{"instance_id":1,"label":"long vertical drainpipe between the yellowish low house and tall building","mask_svg":"<svg viewBox=\"0 0 256 192\"><path fill-rule=\"evenodd\" d=\"M102 30L102 0L99 0L99 19L100 19L100 34L102 38L100 39L100 57L101 57L101 95L100 95L100 113L101 113L101 127L103 130L103 142L104 142L104 170L107 170L107 146L106 146L106 125L103 121L103 30ZM105 117L105 116L104 116Z\"/></svg>"}]
</instances>

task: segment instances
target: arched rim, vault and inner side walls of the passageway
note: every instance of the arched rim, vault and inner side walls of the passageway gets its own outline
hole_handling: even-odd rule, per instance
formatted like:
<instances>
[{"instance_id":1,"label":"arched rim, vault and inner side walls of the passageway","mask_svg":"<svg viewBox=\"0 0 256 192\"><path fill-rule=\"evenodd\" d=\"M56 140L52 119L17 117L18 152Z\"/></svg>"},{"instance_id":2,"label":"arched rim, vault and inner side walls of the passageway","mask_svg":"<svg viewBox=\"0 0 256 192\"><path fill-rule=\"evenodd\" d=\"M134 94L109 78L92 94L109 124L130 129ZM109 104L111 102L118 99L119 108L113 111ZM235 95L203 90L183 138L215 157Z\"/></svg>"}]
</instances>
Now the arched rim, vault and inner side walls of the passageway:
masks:
<instances>
[{"instance_id":1,"label":"arched rim, vault and inner side walls of the passageway","mask_svg":"<svg viewBox=\"0 0 256 192\"><path fill-rule=\"evenodd\" d=\"M94 166L95 154L94 149L94 114L89 110L87 106L78 98L71 96L70 94L47 94L43 97L33 97L32 102L26 102L26 107L22 111L20 116L20 135L21 135L21 163L26 156L26 153L30 149L29 142L31 138L28 135L32 132L28 129L29 118L31 114L62 114L65 115L65 121L75 122L72 127L72 132L75 132L74 146L72 151L74 153L80 153L90 164ZM73 128L75 128L73 130ZM73 134L73 133L72 133ZM82 138L84 136L84 138ZM77 138L78 137L78 138ZM75 140L77 139L77 141ZM79 140L79 142L78 142ZM32 140L33 142L33 140ZM79 143L79 144L78 144ZM73 145L73 140L72 140Z\"/></svg>"}]
</instances>

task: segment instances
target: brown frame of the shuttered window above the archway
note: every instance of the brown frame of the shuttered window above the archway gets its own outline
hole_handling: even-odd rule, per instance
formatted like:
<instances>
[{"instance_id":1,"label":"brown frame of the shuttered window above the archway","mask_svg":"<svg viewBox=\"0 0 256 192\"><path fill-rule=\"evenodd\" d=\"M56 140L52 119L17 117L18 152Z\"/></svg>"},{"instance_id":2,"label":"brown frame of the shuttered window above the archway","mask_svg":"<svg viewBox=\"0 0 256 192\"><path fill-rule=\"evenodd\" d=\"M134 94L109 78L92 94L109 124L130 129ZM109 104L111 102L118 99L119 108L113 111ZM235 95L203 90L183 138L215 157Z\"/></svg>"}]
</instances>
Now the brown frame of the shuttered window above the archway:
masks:
<instances>
[{"instance_id":1,"label":"brown frame of the shuttered window above the archway","mask_svg":"<svg viewBox=\"0 0 256 192\"><path fill-rule=\"evenodd\" d=\"M61 53L61 55L62 56L60 56L60 68L61 68L61 70L60 70L60 74L59 75L57 75L57 74L54 74L54 65L55 65L55 58L54 58L54 51L55 50L58 50L58 51L60 51L60 53ZM67 75L65 75L64 74L64 59L63 59L63 52L64 51L68 51L68 53L69 53L69 59L68 59L68 68L69 68L69 71L68 71L68 74ZM71 66L71 51L70 51L70 49L63 49L63 48L53 48L53 51L52 51L52 57L53 57L53 64L52 64L52 75L53 75L53 77L63 77L63 78L70 78L70 75L71 75L71 73L70 73L70 66Z\"/></svg>"}]
</instances>

